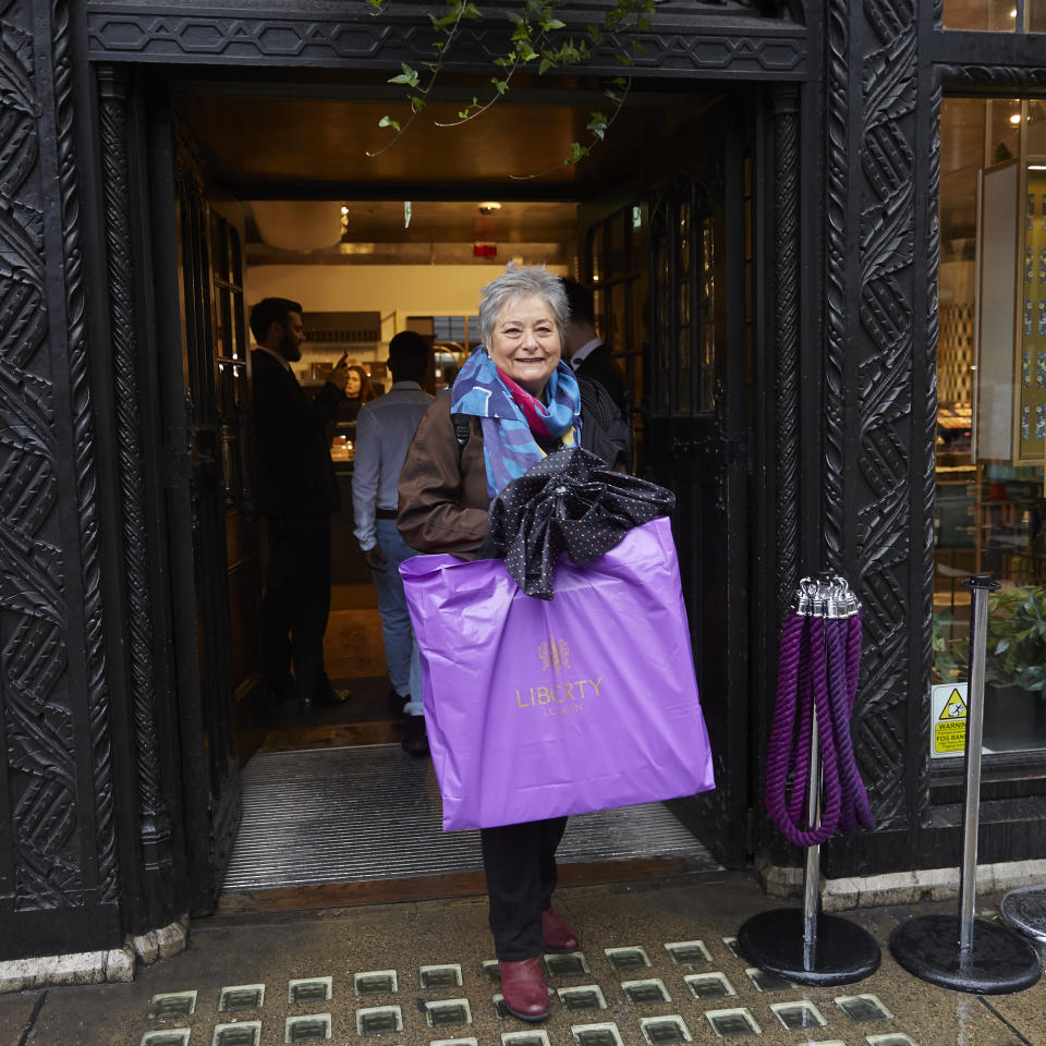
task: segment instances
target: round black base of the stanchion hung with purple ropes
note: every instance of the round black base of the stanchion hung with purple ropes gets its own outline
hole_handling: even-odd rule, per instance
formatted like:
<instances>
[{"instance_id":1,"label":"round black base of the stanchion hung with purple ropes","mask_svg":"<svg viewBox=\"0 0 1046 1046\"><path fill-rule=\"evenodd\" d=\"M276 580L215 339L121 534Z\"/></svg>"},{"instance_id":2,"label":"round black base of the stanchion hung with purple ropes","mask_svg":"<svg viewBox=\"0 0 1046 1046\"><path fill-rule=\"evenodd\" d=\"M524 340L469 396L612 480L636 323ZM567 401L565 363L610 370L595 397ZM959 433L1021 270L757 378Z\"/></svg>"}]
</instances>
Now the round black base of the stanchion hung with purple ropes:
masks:
<instances>
[{"instance_id":1,"label":"round black base of the stanchion hung with purple ropes","mask_svg":"<svg viewBox=\"0 0 1046 1046\"><path fill-rule=\"evenodd\" d=\"M850 984L879 968L879 946L872 935L838 915L817 916L817 947L812 970L803 959L803 913L780 908L753 915L738 931L738 948L751 963L799 984Z\"/></svg>"}]
</instances>

